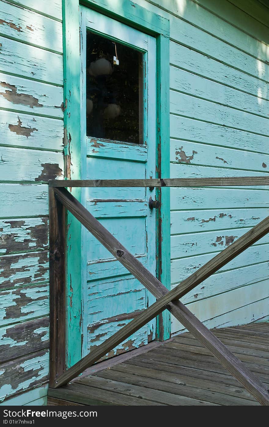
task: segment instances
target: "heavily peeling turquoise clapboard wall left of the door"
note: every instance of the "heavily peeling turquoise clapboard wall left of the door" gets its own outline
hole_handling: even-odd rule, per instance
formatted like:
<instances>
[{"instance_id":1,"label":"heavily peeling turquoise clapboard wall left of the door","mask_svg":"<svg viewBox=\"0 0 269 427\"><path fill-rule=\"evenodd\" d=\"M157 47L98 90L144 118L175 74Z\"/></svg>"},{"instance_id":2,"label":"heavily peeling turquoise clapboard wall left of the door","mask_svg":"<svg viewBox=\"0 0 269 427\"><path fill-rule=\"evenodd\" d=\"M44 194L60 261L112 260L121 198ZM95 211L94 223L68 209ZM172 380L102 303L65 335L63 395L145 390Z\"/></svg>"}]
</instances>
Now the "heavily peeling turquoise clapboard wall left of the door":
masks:
<instances>
[{"instance_id":1,"label":"heavily peeling turquoise clapboard wall left of the door","mask_svg":"<svg viewBox=\"0 0 269 427\"><path fill-rule=\"evenodd\" d=\"M49 371L47 181L64 173L61 0L0 1L0 18L0 401L39 405Z\"/></svg>"}]
</instances>

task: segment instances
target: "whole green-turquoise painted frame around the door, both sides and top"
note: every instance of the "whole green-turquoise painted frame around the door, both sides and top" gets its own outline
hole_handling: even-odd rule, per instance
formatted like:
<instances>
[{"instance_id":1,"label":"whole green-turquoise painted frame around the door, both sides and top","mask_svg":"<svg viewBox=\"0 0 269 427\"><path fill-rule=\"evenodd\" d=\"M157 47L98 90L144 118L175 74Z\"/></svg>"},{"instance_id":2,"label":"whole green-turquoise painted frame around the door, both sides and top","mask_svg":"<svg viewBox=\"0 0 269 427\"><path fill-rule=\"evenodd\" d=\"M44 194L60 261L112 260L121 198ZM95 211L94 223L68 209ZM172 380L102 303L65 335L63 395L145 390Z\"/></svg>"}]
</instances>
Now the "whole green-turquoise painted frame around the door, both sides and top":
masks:
<instances>
[{"instance_id":1,"label":"whole green-turquoise painted frame around the door, both sides and top","mask_svg":"<svg viewBox=\"0 0 269 427\"><path fill-rule=\"evenodd\" d=\"M65 179L81 179L80 135L80 12L79 5L87 6L102 15L116 19L156 38L156 178L170 177L170 119L169 119L169 20L130 0L62 0L63 55L64 55L64 164ZM157 190L157 189L156 189ZM80 201L81 191L72 188ZM156 199L161 201L157 211L156 270L157 278L170 290L170 191L158 189ZM82 349L82 295L81 295L81 224L67 214L67 330L66 365L81 359ZM156 339L170 338L171 318L168 310L158 316Z\"/></svg>"}]
</instances>

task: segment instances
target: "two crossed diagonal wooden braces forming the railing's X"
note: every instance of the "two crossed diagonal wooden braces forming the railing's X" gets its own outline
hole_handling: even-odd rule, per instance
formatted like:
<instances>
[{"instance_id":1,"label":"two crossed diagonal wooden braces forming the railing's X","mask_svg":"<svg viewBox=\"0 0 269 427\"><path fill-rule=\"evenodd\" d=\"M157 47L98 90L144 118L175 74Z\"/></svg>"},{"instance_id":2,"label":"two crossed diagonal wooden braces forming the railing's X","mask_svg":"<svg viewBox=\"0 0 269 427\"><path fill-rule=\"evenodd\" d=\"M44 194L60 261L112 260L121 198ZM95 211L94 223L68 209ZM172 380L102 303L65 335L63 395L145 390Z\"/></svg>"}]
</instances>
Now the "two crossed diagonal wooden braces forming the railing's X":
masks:
<instances>
[{"instance_id":1,"label":"two crossed diagonal wooden braces forming the railing's X","mask_svg":"<svg viewBox=\"0 0 269 427\"><path fill-rule=\"evenodd\" d=\"M263 384L252 374L243 363L228 350L228 348L206 328L180 301L185 293L196 287L207 277L212 275L231 259L243 252L261 237L269 232L269 217L255 225L252 230L240 237L231 246L217 254L197 272L182 281L172 291L158 281L124 246L104 228L81 203L78 202L66 189L54 190L55 197L60 201L87 230L89 230L106 249L108 249L127 270L132 273L157 299L148 309L137 316L121 330L104 341L90 354L75 363L55 381L54 387L63 386L84 371L104 354L130 336L136 330L148 323L162 310L167 308L185 326L211 354L222 363L226 369L263 405L269 405L269 393Z\"/></svg>"}]
</instances>

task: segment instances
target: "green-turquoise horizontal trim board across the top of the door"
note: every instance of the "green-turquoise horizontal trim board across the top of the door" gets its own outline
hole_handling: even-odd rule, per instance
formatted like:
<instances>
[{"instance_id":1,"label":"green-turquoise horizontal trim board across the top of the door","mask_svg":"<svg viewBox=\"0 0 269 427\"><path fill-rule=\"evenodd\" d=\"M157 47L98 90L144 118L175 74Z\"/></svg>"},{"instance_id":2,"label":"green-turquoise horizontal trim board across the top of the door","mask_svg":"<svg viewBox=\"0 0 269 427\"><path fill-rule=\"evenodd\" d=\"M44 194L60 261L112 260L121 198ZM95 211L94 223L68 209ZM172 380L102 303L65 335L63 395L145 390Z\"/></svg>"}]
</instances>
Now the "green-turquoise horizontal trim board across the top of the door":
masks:
<instances>
[{"instance_id":1,"label":"green-turquoise horizontal trim board across the top of the door","mask_svg":"<svg viewBox=\"0 0 269 427\"><path fill-rule=\"evenodd\" d=\"M165 35L169 37L169 20L150 12L142 6L133 3L130 0L119 0L111 2L110 0L81 0L81 5L90 7L103 15L120 20L129 26L148 32L151 35Z\"/></svg>"}]
</instances>

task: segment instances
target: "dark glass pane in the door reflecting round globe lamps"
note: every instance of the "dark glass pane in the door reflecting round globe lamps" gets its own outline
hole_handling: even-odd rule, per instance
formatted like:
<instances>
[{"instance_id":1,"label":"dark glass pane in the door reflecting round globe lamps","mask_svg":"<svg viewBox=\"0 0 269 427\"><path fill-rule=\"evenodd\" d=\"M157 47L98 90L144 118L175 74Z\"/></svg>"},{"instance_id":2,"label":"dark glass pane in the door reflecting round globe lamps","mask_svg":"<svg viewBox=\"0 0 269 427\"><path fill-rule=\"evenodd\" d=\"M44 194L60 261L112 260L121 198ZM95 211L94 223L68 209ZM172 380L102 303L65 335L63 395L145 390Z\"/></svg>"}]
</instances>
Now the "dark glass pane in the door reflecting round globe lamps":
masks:
<instances>
[{"instance_id":1,"label":"dark glass pane in the door reflecting round globe lamps","mask_svg":"<svg viewBox=\"0 0 269 427\"><path fill-rule=\"evenodd\" d=\"M142 53L87 32L87 136L143 142Z\"/></svg>"}]
</instances>

